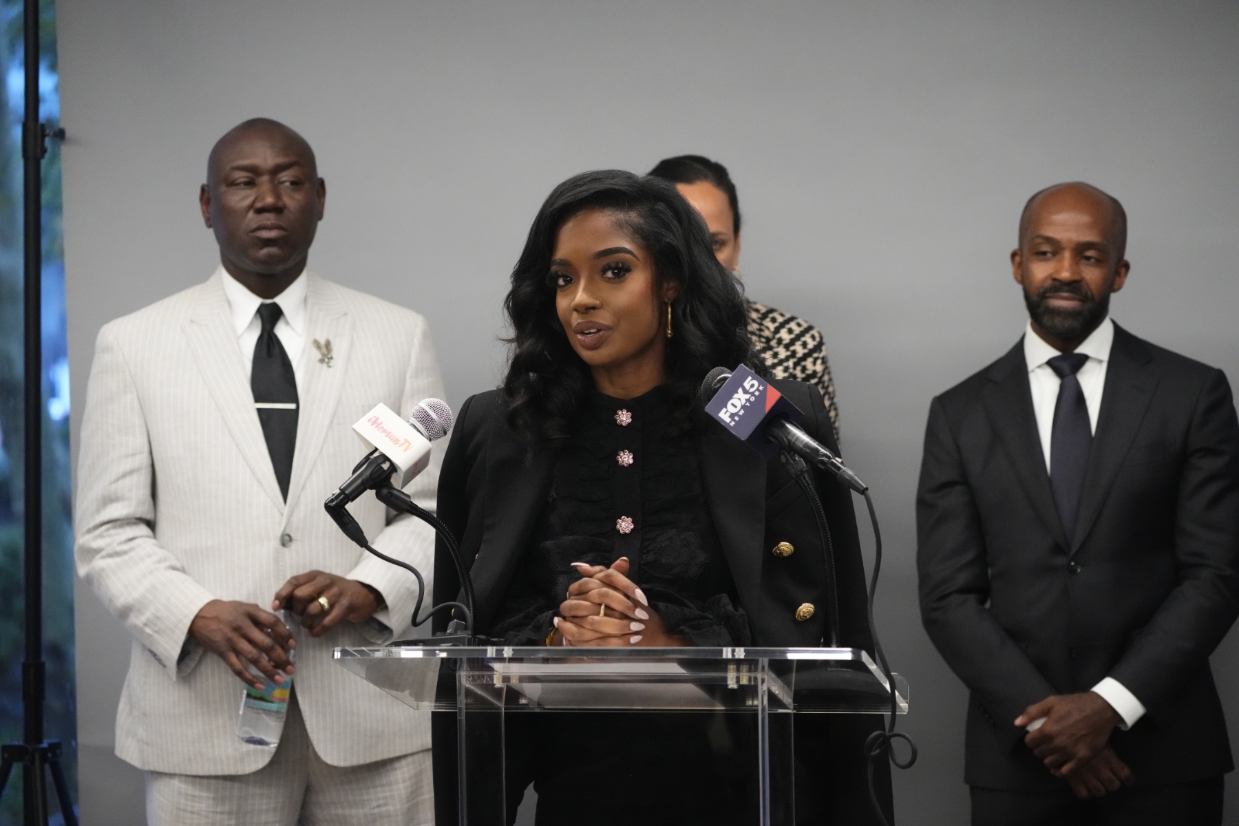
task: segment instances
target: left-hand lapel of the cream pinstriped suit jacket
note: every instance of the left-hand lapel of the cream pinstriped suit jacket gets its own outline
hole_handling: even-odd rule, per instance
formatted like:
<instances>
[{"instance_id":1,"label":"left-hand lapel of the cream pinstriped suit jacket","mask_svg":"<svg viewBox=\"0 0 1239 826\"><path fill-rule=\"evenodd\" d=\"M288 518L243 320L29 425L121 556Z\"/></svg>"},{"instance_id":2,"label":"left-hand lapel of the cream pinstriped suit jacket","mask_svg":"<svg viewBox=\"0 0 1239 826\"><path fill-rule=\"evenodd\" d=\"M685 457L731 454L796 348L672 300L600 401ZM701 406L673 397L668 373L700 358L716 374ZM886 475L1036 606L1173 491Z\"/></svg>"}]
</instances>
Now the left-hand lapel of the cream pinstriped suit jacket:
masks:
<instances>
[{"instance_id":1,"label":"left-hand lapel of the cream pinstriped suit jacket","mask_svg":"<svg viewBox=\"0 0 1239 826\"><path fill-rule=\"evenodd\" d=\"M185 336L198 373L202 374L228 432L237 442L237 448L271 503L284 510L284 497L280 495L263 426L254 410L254 394L245 378L237 331L232 326L228 298L218 272L198 289L197 300L185 323Z\"/></svg>"}]
</instances>

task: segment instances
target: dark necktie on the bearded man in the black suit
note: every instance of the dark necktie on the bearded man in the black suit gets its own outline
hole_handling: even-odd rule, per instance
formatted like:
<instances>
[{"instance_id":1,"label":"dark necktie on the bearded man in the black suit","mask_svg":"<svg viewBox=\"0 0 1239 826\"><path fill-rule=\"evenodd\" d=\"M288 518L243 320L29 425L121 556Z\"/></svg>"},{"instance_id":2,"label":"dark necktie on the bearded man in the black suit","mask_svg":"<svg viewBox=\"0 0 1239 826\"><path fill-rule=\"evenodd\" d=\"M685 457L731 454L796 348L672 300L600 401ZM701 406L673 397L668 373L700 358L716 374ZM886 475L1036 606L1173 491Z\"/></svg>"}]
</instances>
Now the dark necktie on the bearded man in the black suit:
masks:
<instances>
[{"instance_id":1,"label":"dark necktie on the bearded man in the black suit","mask_svg":"<svg viewBox=\"0 0 1239 826\"><path fill-rule=\"evenodd\" d=\"M1075 376L1085 362L1088 355L1083 353L1064 353L1049 359L1049 369L1061 379L1058 401L1054 402L1054 428L1049 437L1049 488L1054 493L1068 544L1075 542L1075 516L1084 489L1088 453L1093 447L1088 405Z\"/></svg>"}]
</instances>

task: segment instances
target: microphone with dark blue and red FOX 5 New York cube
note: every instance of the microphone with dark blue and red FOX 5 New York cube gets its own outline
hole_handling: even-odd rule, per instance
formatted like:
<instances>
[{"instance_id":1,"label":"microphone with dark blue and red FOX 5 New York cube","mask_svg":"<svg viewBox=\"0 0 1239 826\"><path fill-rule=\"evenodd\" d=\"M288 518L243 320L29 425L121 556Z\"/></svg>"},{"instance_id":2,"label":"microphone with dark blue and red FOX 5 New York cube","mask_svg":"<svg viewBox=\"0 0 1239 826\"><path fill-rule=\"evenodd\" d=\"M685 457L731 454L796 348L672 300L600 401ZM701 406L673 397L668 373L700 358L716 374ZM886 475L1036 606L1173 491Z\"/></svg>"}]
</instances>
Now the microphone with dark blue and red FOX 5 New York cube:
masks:
<instances>
[{"instance_id":1,"label":"microphone with dark blue and red FOX 5 New York cube","mask_svg":"<svg viewBox=\"0 0 1239 826\"><path fill-rule=\"evenodd\" d=\"M830 471L856 493L869 490L869 485L830 448L797 424L804 414L743 364L735 370L725 367L710 370L698 395L715 421L760 453L769 457L773 452L771 446L777 445L823 471Z\"/></svg>"}]
</instances>

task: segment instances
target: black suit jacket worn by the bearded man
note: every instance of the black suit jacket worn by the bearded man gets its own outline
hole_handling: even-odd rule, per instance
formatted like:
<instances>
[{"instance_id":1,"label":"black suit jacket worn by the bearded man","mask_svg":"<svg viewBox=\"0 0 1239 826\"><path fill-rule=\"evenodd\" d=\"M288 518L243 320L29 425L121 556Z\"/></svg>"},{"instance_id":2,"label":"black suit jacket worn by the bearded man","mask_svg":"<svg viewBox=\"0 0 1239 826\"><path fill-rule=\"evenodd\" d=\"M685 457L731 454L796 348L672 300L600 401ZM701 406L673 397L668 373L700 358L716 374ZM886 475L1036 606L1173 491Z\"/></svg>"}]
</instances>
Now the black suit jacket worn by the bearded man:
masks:
<instances>
[{"instance_id":1,"label":"black suit jacket worn by the bearded man","mask_svg":"<svg viewBox=\"0 0 1239 826\"><path fill-rule=\"evenodd\" d=\"M1061 788L1012 721L1105 676L1147 708L1110 741L1139 781L1229 772L1208 663L1239 613L1239 425L1220 370L1115 327L1078 519L1068 545L1022 343L934 399L921 613L971 691L966 781Z\"/></svg>"}]
</instances>

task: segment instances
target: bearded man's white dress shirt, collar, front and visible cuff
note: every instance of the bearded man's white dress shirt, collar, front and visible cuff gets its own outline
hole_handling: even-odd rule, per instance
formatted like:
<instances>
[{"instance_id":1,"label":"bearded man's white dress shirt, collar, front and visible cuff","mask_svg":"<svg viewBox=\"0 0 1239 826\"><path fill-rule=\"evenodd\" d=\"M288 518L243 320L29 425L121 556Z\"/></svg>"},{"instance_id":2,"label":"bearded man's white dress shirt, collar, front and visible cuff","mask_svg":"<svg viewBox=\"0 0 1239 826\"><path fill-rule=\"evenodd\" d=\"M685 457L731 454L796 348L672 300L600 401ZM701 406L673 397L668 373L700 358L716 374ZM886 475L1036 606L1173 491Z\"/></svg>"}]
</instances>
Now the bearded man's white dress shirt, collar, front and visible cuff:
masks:
<instances>
[{"instance_id":1,"label":"bearded man's white dress shirt, collar, front and visible cuff","mask_svg":"<svg viewBox=\"0 0 1239 826\"><path fill-rule=\"evenodd\" d=\"M1089 426L1097 435L1097 421L1101 412L1101 393L1105 390L1105 369L1110 362L1110 346L1114 343L1114 322L1106 317L1097 329L1094 329L1084 342L1075 348L1077 353L1088 355L1088 362L1079 369L1075 378L1084 391L1084 404L1088 407ZM1054 405L1058 402L1058 385L1062 380L1049 359L1062 355L1057 349L1046 343L1041 336L1032 329L1028 322L1023 333L1023 359L1028 367L1028 388L1032 390L1032 410L1037 416L1037 433L1041 436L1041 452L1046 457L1046 472L1049 472L1049 441L1054 431ZM1105 677L1093 691L1110 703L1110 706L1123 717L1119 728L1127 729L1135 726L1136 721L1144 717L1145 706L1136 696L1127 691L1126 686L1114 677ZM1035 721L1036 724L1037 721ZM1030 726L1033 728L1035 726Z\"/></svg>"}]
</instances>

